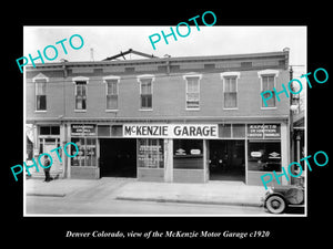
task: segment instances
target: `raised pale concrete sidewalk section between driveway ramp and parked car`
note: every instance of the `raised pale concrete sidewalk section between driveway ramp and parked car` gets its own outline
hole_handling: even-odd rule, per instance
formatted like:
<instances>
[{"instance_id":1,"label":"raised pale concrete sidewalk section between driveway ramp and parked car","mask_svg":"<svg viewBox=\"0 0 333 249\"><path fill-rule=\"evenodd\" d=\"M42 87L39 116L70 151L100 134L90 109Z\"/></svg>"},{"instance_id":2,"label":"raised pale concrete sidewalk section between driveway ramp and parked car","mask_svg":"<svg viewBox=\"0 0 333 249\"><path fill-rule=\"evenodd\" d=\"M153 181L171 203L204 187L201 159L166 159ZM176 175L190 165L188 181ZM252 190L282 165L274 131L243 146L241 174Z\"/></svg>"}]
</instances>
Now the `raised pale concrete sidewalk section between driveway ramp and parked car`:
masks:
<instances>
[{"instance_id":1,"label":"raised pale concrete sidewalk section between driveway ramp and parked car","mask_svg":"<svg viewBox=\"0 0 333 249\"><path fill-rule=\"evenodd\" d=\"M264 194L263 186L248 186L242 181L206 184L133 181L118 191L117 199L261 207Z\"/></svg>"}]
</instances>

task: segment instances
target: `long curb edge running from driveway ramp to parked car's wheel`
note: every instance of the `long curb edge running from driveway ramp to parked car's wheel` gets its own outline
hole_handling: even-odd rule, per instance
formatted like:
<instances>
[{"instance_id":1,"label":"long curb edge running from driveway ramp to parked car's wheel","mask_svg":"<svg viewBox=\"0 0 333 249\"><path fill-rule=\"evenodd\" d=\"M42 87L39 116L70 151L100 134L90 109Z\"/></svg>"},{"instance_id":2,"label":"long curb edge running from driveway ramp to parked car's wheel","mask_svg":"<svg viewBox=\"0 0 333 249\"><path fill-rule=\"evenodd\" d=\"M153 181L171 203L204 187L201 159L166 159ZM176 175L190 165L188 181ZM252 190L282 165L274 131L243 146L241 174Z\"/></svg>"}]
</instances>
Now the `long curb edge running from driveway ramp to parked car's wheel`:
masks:
<instances>
[{"instance_id":1,"label":"long curb edge running from driveway ramp to parked car's wheel","mask_svg":"<svg viewBox=\"0 0 333 249\"><path fill-rule=\"evenodd\" d=\"M155 201L155 203L180 203L180 204L206 204L206 205L230 205L246 207L263 207L263 204L240 203L240 201L213 201L213 200L188 200L188 199L168 199L168 198L139 198L139 197L115 197L119 200L133 201Z\"/></svg>"}]
</instances>

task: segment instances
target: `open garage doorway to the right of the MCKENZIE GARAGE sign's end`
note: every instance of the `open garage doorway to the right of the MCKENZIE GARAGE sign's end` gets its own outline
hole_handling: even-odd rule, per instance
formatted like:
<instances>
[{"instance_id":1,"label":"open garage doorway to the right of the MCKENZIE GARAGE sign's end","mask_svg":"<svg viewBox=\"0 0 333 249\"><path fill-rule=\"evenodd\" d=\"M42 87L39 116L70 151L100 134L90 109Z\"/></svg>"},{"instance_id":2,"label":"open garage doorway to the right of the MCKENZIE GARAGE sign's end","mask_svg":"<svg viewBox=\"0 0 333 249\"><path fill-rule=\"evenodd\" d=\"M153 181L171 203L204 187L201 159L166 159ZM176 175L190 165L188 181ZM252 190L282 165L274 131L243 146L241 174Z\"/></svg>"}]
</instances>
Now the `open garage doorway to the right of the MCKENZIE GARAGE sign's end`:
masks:
<instances>
[{"instance_id":1,"label":"open garage doorway to the right of the MCKENZIE GARAGE sign's end","mask_svg":"<svg viewBox=\"0 0 333 249\"><path fill-rule=\"evenodd\" d=\"M244 141L210 141L209 148L210 180L245 183Z\"/></svg>"}]
</instances>

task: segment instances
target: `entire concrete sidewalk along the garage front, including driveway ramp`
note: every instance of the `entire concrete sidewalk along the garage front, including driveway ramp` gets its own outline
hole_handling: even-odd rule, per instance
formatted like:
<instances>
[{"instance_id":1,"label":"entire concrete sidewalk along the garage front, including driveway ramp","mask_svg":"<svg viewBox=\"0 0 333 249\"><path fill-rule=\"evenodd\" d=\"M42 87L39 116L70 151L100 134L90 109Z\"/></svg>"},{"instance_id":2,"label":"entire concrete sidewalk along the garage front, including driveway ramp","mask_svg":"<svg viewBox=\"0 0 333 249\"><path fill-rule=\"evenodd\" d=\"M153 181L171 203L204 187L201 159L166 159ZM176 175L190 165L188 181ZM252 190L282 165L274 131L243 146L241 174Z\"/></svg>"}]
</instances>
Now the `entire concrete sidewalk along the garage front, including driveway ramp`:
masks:
<instances>
[{"instance_id":1,"label":"entire concrete sidewalk along the garage front, including driveway ramp","mask_svg":"<svg viewBox=\"0 0 333 249\"><path fill-rule=\"evenodd\" d=\"M89 201L99 198L123 200L219 204L261 207L263 186L246 186L242 181L206 184L149 183L131 178L58 179L43 183L26 180L27 196L80 198Z\"/></svg>"}]
</instances>

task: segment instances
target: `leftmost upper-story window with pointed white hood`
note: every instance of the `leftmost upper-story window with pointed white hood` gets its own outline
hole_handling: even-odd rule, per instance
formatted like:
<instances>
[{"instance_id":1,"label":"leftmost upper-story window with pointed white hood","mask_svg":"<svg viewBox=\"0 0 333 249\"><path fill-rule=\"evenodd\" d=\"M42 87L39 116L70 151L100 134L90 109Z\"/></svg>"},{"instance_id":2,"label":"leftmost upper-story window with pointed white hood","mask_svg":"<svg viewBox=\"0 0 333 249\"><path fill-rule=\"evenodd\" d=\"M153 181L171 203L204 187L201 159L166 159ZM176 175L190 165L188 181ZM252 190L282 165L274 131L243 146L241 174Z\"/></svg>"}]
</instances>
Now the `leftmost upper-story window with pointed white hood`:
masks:
<instances>
[{"instance_id":1,"label":"leftmost upper-story window with pointed white hood","mask_svg":"<svg viewBox=\"0 0 333 249\"><path fill-rule=\"evenodd\" d=\"M38 74L32 81L36 90L36 111L47 111L47 82L49 79L43 74Z\"/></svg>"}]
</instances>

